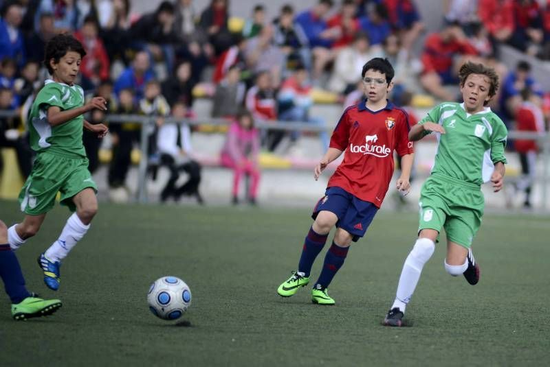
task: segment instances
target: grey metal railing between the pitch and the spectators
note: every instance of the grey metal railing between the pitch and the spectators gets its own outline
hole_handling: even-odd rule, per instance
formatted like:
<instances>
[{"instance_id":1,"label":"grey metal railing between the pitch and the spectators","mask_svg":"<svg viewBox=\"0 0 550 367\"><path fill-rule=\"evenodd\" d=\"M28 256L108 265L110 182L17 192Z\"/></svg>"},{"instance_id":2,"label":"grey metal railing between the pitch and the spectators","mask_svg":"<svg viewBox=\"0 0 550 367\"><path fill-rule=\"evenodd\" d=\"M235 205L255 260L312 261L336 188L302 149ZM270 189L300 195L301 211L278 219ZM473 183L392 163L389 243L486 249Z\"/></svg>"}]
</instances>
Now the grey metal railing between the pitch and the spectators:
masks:
<instances>
[{"instance_id":1,"label":"grey metal railing between the pitch and the spectators","mask_svg":"<svg viewBox=\"0 0 550 367\"><path fill-rule=\"evenodd\" d=\"M0 117L17 117L17 112L9 110L0 110ZM107 115L106 120L109 123L124 123L133 122L141 123L144 128L141 130L141 157L140 164L138 166L138 184L137 184L137 200L140 202L147 201L146 195L146 175L148 166L148 135L151 129L146 127L153 127L157 116L146 115ZM173 117L165 117L164 123L188 123L190 126L228 126L230 119L219 118L206 118L206 119L174 119ZM329 127L322 127L313 125L311 123L305 123L303 121L256 121L256 128L259 130L280 130L280 131L307 131L307 132L321 132L324 130L331 130ZM548 206L548 184L550 183L550 133L544 132L539 134L537 132L525 132L509 130L508 138L511 140L525 139L537 141L538 146L542 154L542 174L537 174L535 182L540 182L542 185L542 208L547 211Z\"/></svg>"}]
</instances>

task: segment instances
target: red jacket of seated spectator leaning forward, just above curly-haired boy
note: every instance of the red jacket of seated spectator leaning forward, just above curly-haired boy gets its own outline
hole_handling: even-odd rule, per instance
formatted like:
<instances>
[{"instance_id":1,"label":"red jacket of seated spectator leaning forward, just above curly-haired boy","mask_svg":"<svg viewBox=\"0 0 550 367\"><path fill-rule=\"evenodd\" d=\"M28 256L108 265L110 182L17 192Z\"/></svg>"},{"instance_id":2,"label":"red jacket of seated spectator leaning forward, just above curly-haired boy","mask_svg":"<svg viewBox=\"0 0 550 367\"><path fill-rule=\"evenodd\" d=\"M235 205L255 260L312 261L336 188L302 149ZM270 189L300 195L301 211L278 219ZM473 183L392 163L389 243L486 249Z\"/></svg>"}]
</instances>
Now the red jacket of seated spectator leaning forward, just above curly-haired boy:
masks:
<instances>
[{"instance_id":1,"label":"red jacket of seated spectator leaning forward, just above curly-haired boy","mask_svg":"<svg viewBox=\"0 0 550 367\"><path fill-rule=\"evenodd\" d=\"M424 51L421 56L423 72L435 71L444 73L452 67L452 58L455 54L476 55L476 49L467 40L451 40L443 43L439 33L432 33L426 38Z\"/></svg>"}]
</instances>

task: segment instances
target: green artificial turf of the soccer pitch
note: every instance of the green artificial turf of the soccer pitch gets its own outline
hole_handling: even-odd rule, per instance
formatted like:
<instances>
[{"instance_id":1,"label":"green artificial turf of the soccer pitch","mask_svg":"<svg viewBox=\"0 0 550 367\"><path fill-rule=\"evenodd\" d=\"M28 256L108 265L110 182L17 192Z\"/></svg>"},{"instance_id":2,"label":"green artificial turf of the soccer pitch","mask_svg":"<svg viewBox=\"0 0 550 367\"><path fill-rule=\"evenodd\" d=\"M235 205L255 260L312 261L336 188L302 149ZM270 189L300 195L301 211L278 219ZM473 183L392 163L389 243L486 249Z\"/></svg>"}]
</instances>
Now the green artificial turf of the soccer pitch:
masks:
<instances>
[{"instance_id":1,"label":"green artificial turf of the soccer pitch","mask_svg":"<svg viewBox=\"0 0 550 367\"><path fill-rule=\"evenodd\" d=\"M444 242L437 246L408 327L393 329L381 321L416 213L377 214L329 288L334 307L312 305L309 287L276 294L298 263L307 209L100 204L52 292L36 257L68 215L57 206L17 252L28 288L63 308L15 322L2 294L0 366L525 366L550 355L549 217L486 215L474 241L476 286L444 271ZM1 220L21 217L16 202L0 201ZM188 327L148 311L148 287L164 275L190 286Z\"/></svg>"}]
</instances>

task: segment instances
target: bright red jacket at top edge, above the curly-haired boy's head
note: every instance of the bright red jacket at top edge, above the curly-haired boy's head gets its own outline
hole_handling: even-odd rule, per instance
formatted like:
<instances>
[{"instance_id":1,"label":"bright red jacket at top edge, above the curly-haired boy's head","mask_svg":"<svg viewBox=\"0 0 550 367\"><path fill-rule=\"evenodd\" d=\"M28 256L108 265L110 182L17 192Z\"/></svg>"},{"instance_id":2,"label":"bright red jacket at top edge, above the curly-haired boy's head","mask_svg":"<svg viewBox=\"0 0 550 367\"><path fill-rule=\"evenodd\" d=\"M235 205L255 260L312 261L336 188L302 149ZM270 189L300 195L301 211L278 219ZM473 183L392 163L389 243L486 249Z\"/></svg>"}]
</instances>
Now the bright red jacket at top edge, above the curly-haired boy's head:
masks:
<instances>
[{"instance_id":1,"label":"bright red jacket at top edge, above the curly-haired boy's head","mask_svg":"<svg viewBox=\"0 0 550 367\"><path fill-rule=\"evenodd\" d=\"M511 0L479 0L478 15L490 34L515 28L514 2Z\"/></svg>"}]
</instances>

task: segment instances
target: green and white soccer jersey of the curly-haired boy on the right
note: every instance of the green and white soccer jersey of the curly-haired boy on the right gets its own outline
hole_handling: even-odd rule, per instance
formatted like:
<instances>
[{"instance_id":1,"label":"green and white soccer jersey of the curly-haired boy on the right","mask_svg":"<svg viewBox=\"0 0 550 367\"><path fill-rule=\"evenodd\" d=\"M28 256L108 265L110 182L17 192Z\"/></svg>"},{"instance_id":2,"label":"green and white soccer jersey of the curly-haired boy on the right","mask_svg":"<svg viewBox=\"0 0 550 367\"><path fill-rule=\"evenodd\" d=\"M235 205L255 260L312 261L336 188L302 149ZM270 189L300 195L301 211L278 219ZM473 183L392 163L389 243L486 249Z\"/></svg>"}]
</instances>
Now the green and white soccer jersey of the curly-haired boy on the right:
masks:
<instances>
[{"instance_id":1,"label":"green and white soccer jersey of the curly-haired boy on the right","mask_svg":"<svg viewBox=\"0 0 550 367\"><path fill-rule=\"evenodd\" d=\"M491 178L494 163L506 163L508 132L490 108L470 115L463 104L447 102L434 107L419 123L425 122L445 128L445 134L436 134L438 146L432 174L481 185Z\"/></svg>"}]
</instances>

